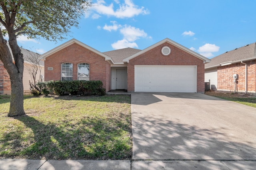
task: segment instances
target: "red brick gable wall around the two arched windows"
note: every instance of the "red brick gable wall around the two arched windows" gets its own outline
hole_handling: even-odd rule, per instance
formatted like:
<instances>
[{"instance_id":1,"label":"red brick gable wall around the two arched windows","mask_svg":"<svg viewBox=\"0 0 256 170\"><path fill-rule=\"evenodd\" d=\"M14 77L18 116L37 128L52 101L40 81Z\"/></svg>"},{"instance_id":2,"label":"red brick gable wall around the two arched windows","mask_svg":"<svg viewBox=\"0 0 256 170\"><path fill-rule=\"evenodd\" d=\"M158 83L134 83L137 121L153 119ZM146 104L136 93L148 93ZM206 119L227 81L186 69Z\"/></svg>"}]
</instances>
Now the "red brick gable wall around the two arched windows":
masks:
<instances>
[{"instance_id":1,"label":"red brick gable wall around the two arched windows","mask_svg":"<svg viewBox=\"0 0 256 170\"><path fill-rule=\"evenodd\" d=\"M72 44L53 55L46 57L44 61L44 80L61 80L61 64L73 64L73 80L77 80L77 65L79 63L90 64L90 80L101 80L103 88L110 91L110 64L104 57L78 45ZM53 70L48 70L53 67Z\"/></svg>"}]
</instances>

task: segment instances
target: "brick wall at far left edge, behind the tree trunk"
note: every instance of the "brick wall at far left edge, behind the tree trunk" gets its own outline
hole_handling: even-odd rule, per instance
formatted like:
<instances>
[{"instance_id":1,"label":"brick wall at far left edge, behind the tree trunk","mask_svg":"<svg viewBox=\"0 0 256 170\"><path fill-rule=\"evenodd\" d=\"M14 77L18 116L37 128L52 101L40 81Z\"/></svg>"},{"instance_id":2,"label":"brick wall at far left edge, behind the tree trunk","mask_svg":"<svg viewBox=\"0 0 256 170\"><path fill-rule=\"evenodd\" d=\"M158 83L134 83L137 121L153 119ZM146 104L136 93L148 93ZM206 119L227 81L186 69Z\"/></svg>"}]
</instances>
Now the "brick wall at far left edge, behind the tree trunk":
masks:
<instances>
[{"instance_id":1,"label":"brick wall at far left edge, behind the tree trunk","mask_svg":"<svg viewBox=\"0 0 256 170\"><path fill-rule=\"evenodd\" d=\"M4 68L4 64L0 61L0 93L11 93L11 81L7 70Z\"/></svg>"}]
</instances>

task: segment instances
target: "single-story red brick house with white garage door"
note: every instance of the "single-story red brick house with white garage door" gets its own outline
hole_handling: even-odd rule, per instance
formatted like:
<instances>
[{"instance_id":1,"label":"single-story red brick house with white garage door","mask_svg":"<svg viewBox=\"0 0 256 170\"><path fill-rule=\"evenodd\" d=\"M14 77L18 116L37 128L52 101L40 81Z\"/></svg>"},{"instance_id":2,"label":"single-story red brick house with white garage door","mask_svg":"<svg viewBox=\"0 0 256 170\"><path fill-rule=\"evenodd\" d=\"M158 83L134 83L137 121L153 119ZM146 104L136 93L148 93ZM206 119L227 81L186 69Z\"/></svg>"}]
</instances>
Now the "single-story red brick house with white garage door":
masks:
<instances>
[{"instance_id":1,"label":"single-story red brick house with white garage door","mask_svg":"<svg viewBox=\"0 0 256 170\"><path fill-rule=\"evenodd\" d=\"M106 91L204 92L204 64L210 59L164 39L144 50L101 53L71 39L42 55L45 81L101 80Z\"/></svg>"}]
</instances>

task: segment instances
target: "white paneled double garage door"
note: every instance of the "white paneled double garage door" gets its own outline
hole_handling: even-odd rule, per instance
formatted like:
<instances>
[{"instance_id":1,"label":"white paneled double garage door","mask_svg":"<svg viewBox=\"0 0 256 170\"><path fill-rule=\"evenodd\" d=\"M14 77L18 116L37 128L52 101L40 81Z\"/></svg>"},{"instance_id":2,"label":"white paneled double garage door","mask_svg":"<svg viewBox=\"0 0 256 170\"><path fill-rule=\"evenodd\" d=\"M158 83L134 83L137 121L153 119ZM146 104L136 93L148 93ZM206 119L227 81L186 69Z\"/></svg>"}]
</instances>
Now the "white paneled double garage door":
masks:
<instances>
[{"instance_id":1,"label":"white paneled double garage door","mask_svg":"<svg viewBox=\"0 0 256 170\"><path fill-rule=\"evenodd\" d=\"M196 66L135 66L135 92L196 92Z\"/></svg>"}]
</instances>

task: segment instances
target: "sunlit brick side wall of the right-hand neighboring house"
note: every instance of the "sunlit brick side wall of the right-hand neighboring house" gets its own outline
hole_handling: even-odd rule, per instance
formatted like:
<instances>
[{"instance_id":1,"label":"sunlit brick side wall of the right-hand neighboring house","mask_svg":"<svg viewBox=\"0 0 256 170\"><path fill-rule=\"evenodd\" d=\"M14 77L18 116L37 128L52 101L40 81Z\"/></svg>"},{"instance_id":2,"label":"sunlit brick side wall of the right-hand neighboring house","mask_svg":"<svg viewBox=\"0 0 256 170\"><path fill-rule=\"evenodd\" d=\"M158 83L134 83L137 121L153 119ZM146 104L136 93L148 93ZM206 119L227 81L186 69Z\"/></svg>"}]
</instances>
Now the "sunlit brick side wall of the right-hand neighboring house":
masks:
<instances>
[{"instance_id":1,"label":"sunlit brick side wall of the right-hand neighboring house","mask_svg":"<svg viewBox=\"0 0 256 170\"><path fill-rule=\"evenodd\" d=\"M247 63L247 91L256 92L256 60ZM233 74L238 74L237 90L245 91L245 64L236 63L218 67L218 90L234 91Z\"/></svg>"}]
</instances>

